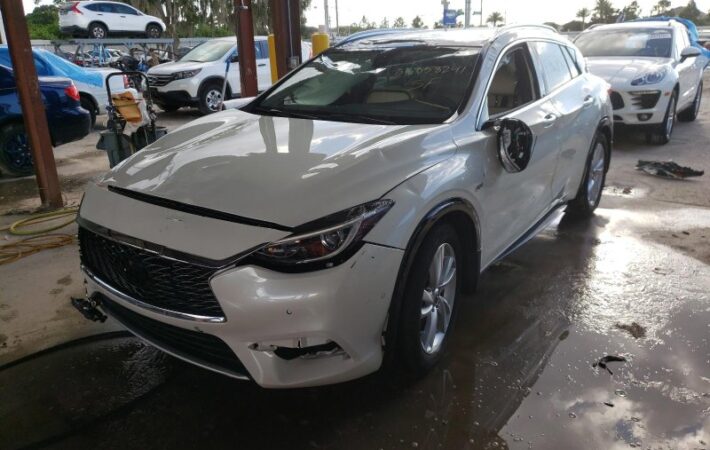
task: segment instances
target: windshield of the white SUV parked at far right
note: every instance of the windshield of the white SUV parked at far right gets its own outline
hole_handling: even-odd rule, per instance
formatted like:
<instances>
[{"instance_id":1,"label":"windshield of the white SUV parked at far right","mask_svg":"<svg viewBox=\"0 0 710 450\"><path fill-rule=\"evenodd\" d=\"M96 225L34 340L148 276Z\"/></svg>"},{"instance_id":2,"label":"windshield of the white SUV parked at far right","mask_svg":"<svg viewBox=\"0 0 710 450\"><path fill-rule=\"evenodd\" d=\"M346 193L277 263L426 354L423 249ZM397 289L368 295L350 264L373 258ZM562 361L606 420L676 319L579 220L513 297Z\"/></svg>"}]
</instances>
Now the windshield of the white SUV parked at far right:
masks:
<instances>
[{"instance_id":1,"label":"windshield of the white SUV parked at far right","mask_svg":"<svg viewBox=\"0 0 710 450\"><path fill-rule=\"evenodd\" d=\"M586 57L641 56L670 58L671 30L599 30L581 34L574 43Z\"/></svg>"}]
</instances>

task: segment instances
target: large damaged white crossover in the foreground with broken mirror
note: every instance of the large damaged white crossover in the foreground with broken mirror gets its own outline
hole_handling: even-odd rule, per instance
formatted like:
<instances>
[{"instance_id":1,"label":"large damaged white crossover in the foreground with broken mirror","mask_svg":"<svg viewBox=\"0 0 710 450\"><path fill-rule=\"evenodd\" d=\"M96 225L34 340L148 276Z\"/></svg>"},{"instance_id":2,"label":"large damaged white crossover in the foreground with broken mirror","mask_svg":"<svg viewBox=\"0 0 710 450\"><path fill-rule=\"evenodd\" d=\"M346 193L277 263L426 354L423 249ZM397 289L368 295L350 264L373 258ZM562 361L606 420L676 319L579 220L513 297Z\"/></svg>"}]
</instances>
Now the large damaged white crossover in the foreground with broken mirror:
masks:
<instances>
[{"instance_id":1,"label":"large damaged white crossover in the foreground with broken mirror","mask_svg":"<svg viewBox=\"0 0 710 450\"><path fill-rule=\"evenodd\" d=\"M482 270L593 214L611 115L547 27L331 48L88 187L75 305L265 387L423 374Z\"/></svg>"}]
</instances>

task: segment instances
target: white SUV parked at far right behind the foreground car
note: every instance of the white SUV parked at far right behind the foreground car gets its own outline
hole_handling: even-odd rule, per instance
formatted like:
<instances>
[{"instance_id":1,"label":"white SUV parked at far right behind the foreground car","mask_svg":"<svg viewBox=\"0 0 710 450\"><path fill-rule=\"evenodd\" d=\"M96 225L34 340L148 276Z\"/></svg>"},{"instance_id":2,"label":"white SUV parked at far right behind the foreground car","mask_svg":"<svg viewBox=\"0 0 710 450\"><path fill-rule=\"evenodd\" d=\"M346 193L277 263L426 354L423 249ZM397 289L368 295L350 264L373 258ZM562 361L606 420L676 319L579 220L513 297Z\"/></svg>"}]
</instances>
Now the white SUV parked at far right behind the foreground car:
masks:
<instances>
[{"instance_id":1,"label":"white SUV parked at far right behind the foreground car","mask_svg":"<svg viewBox=\"0 0 710 450\"><path fill-rule=\"evenodd\" d=\"M599 25L575 44L590 72L613 92L617 124L641 126L649 142L670 141L676 117L693 121L703 95L707 58L690 45L687 28L675 21Z\"/></svg>"}]
</instances>

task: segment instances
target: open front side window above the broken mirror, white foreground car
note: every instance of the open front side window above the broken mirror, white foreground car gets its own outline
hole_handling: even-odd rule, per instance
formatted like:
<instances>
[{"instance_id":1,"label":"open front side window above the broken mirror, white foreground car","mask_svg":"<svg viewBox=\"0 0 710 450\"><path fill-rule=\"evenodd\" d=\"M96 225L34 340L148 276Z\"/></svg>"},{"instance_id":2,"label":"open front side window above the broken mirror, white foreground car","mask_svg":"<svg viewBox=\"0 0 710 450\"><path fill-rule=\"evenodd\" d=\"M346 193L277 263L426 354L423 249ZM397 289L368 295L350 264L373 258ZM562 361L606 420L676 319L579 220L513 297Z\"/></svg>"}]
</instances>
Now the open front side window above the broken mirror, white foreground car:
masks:
<instances>
[{"instance_id":1,"label":"open front side window above the broken mirror, white foreground car","mask_svg":"<svg viewBox=\"0 0 710 450\"><path fill-rule=\"evenodd\" d=\"M488 117L495 117L539 98L535 71L526 46L503 56L486 97Z\"/></svg>"}]
</instances>

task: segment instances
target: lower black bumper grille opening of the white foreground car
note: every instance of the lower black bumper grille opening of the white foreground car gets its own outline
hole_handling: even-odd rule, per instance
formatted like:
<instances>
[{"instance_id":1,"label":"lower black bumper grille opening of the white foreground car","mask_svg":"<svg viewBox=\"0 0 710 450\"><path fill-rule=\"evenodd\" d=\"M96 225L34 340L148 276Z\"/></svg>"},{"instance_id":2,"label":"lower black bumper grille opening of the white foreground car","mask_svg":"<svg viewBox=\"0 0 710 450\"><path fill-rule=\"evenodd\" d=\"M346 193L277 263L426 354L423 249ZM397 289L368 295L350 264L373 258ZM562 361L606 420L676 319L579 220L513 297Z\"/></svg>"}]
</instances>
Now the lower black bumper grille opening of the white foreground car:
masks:
<instances>
[{"instance_id":1,"label":"lower black bumper grille opening of the white foreground car","mask_svg":"<svg viewBox=\"0 0 710 450\"><path fill-rule=\"evenodd\" d=\"M168 352L216 370L240 377L247 376L248 372L237 355L216 336L149 319L105 296L100 297L100 303L106 313L126 328Z\"/></svg>"}]
</instances>

